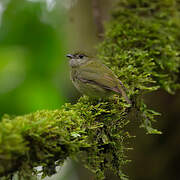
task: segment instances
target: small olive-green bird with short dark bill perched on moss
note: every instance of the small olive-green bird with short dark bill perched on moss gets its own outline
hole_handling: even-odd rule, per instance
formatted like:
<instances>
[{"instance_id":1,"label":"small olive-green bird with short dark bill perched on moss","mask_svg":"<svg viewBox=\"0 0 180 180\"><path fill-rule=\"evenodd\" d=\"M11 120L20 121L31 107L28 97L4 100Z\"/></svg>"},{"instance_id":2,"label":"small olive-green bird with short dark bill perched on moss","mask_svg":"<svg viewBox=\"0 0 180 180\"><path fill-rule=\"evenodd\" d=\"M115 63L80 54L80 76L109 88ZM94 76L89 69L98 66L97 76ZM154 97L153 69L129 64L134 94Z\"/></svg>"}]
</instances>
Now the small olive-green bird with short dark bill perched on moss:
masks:
<instances>
[{"instance_id":1,"label":"small olive-green bird with short dark bill perched on moss","mask_svg":"<svg viewBox=\"0 0 180 180\"><path fill-rule=\"evenodd\" d=\"M107 66L85 54L66 56L70 58L71 80L82 94L106 98L116 93L121 94L128 104L132 104L126 95L124 85Z\"/></svg>"}]
</instances>

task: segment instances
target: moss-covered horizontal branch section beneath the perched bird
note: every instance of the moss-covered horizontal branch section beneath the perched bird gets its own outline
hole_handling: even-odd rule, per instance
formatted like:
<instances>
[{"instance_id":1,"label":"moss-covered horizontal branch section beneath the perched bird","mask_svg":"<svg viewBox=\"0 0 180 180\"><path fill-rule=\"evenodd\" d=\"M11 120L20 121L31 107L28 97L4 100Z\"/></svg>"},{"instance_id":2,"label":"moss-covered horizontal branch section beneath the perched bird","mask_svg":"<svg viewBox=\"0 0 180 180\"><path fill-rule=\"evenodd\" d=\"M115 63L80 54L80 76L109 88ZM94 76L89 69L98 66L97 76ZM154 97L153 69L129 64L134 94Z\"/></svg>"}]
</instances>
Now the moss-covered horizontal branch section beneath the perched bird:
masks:
<instances>
[{"instance_id":1,"label":"moss-covered horizontal branch section beneath the perched bird","mask_svg":"<svg viewBox=\"0 0 180 180\"><path fill-rule=\"evenodd\" d=\"M75 105L65 104L55 111L39 111L13 119L4 116L0 124L0 175L19 171L24 178L43 167L43 177L67 157L81 156L85 166L99 179L107 169L124 176L124 130L126 108L118 97L98 103L84 96Z\"/></svg>"}]
</instances>

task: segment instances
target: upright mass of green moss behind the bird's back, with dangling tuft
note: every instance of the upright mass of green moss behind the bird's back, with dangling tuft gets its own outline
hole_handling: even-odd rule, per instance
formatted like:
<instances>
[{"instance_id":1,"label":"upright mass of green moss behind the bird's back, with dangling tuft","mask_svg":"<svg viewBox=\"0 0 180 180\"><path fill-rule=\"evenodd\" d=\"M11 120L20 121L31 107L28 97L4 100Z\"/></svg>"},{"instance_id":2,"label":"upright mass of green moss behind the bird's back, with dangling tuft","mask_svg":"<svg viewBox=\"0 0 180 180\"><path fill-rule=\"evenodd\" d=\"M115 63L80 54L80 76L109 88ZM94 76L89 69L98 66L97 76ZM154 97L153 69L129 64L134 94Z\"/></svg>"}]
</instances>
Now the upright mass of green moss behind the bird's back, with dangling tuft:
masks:
<instances>
[{"instance_id":1,"label":"upright mass of green moss behind the bird's back, with dangling tuft","mask_svg":"<svg viewBox=\"0 0 180 180\"><path fill-rule=\"evenodd\" d=\"M140 95L159 88L173 94L180 87L180 12L176 0L125 0L113 11L99 57L129 90L148 133L159 113Z\"/></svg>"}]
</instances>

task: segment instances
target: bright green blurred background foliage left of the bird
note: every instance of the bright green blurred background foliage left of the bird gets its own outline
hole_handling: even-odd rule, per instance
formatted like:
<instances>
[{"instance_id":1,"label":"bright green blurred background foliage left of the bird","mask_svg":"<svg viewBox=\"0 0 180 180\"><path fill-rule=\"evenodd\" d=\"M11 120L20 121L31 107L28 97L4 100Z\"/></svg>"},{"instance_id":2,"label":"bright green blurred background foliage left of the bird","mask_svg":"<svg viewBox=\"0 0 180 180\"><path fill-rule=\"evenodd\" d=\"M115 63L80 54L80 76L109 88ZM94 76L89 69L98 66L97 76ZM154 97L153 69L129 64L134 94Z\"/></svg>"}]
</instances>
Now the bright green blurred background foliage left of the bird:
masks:
<instances>
[{"instance_id":1,"label":"bright green blurred background foliage left of the bird","mask_svg":"<svg viewBox=\"0 0 180 180\"><path fill-rule=\"evenodd\" d=\"M28 0L1 1L0 7L0 116L60 107L65 101L62 8Z\"/></svg>"}]
</instances>

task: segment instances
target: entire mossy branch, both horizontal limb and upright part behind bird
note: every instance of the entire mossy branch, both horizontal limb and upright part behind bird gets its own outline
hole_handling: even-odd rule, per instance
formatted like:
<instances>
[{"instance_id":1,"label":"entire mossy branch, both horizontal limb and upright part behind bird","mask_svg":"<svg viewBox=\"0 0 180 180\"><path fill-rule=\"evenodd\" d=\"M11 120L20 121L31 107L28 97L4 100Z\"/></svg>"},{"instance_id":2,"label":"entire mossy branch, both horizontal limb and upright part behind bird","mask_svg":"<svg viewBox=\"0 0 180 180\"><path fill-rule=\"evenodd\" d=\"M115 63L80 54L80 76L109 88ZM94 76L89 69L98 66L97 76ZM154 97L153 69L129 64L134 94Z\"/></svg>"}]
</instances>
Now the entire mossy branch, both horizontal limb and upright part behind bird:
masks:
<instances>
[{"instance_id":1,"label":"entire mossy branch, both horizontal limb and upright part behind bird","mask_svg":"<svg viewBox=\"0 0 180 180\"><path fill-rule=\"evenodd\" d=\"M106 27L99 57L128 89L147 133L160 133L151 123L159 115L142 95L159 88L174 93L180 87L180 13L178 0L124 0ZM96 101L83 96L74 104L29 115L5 115L0 123L0 176L9 178L55 173L67 157L81 157L98 179L112 170L121 179L131 138L126 130L129 107L119 96ZM131 120L132 121L132 120Z\"/></svg>"}]
</instances>

